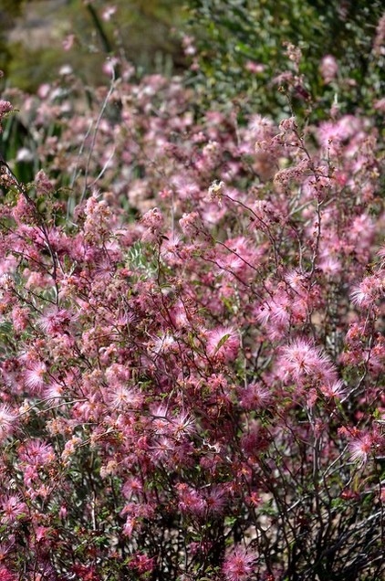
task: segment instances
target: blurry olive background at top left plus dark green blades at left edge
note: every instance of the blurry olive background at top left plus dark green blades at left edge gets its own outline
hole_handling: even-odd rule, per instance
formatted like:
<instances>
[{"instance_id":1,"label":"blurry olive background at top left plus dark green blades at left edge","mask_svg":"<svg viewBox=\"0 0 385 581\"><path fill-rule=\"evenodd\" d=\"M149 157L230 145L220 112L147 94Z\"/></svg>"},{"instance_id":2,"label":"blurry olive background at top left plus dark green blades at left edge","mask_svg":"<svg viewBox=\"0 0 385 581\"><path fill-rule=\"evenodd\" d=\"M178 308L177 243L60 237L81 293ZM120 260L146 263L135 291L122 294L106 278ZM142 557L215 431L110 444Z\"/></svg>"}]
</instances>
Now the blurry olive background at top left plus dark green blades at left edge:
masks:
<instances>
[{"instance_id":1,"label":"blurry olive background at top left plus dark green blades at left edge","mask_svg":"<svg viewBox=\"0 0 385 581\"><path fill-rule=\"evenodd\" d=\"M84 111L90 101L98 100L94 89L110 83L110 73L103 70L108 58L131 62L133 80L184 70L187 61L177 33L181 22L182 6L174 0L0 0L0 70L5 73L0 90L34 95L49 83L57 88L59 104L68 90L80 95L81 86ZM13 104L21 102L20 114L4 123L0 150L8 161L16 159L18 178L28 182L39 162L23 99L16 93L11 99ZM39 130L47 133L39 139L60 131L57 120Z\"/></svg>"}]
</instances>

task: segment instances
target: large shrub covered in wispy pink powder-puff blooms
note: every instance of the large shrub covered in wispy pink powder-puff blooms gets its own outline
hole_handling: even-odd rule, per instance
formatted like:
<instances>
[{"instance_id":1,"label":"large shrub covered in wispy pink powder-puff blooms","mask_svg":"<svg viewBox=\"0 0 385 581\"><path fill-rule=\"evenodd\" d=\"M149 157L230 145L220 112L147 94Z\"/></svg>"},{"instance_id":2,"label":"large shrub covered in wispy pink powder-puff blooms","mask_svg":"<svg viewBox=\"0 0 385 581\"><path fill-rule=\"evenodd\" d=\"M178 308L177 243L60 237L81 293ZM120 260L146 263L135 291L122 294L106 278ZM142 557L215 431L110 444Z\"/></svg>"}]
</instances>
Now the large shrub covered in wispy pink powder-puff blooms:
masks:
<instances>
[{"instance_id":1,"label":"large shrub covered in wispy pink powder-puff blooms","mask_svg":"<svg viewBox=\"0 0 385 581\"><path fill-rule=\"evenodd\" d=\"M380 578L376 126L68 85L2 174L0 579Z\"/></svg>"}]
</instances>

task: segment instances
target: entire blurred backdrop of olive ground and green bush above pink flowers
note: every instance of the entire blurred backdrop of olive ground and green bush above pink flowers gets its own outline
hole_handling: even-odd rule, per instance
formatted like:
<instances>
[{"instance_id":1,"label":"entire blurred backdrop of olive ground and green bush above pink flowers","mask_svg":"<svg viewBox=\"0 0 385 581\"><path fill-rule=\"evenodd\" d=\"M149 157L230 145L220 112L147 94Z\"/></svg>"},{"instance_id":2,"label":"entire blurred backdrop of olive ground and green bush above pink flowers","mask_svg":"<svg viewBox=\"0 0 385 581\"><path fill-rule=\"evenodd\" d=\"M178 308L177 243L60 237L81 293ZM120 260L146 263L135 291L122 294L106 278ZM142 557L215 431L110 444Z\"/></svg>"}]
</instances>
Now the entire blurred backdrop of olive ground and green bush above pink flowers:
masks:
<instances>
[{"instance_id":1,"label":"entire blurred backdrop of olive ground and green bush above pink flowers","mask_svg":"<svg viewBox=\"0 0 385 581\"><path fill-rule=\"evenodd\" d=\"M183 73L198 115L238 107L279 118L288 106L274 79L287 70L288 41L303 52L299 72L319 118L336 100L341 111L377 115L385 54L373 38L383 12L382 0L0 0L2 82L34 92L69 65L85 86L108 84L102 66L117 57L138 78ZM339 71L326 86L328 54ZM303 96L293 99L306 109Z\"/></svg>"}]
</instances>

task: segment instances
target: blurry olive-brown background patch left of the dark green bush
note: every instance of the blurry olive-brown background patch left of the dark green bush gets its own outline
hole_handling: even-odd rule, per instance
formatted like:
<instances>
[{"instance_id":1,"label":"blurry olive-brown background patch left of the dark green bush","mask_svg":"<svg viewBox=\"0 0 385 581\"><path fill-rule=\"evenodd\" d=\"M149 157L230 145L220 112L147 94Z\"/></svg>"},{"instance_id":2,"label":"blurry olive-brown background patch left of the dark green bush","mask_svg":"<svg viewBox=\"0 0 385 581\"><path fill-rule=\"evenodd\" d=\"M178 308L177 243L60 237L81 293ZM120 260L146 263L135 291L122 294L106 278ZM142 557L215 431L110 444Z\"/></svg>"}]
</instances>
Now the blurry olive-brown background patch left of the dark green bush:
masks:
<instances>
[{"instance_id":1,"label":"blurry olive-brown background patch left of the dark green bush","mask_svg":"<svg viewBox=\"0 0 385 581\"><path fill-rule=\"evenodd\" d=\"M182 22L175 0L0 0L0 16L0 68L21 90L57 79L64 65L89 85L109 82L102 72L108 56L131 61L139 74L185 68L172 34Z\"/></svg>"}]
</instances>

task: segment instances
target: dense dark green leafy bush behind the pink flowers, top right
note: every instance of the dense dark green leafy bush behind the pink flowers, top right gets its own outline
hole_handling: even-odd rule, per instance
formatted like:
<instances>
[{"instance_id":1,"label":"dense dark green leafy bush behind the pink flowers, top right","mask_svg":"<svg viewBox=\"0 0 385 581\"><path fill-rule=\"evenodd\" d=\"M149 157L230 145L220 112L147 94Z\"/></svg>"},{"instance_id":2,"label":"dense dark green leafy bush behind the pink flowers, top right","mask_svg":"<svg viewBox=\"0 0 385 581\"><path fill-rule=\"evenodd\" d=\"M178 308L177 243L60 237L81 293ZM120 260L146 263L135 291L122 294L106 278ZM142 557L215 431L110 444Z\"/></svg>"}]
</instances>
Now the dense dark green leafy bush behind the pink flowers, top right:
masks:
<instances>
[{"instance_id":1,"label":"dense dark green leafy bush behind the pink flowers, top right","mask_svg":"<svg viewBox=\"0 0 385 581\"><path fill-rule=\"evenodd\" d=\"M203 102L222 108L240 102L244 111L279 116L286 100L272 79L287 70L282 47L288 41L302 50L300 73L313 100L329 106L338 98L343 111L374 112L373 96L384 90L385 55L372 51L382 0L189 0L188 5L187 27L197 48L189 78ZM346 79L338 95L319 73L326 55L338 60L339 91Z\"/></svg>"}]
</instances>

